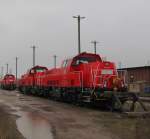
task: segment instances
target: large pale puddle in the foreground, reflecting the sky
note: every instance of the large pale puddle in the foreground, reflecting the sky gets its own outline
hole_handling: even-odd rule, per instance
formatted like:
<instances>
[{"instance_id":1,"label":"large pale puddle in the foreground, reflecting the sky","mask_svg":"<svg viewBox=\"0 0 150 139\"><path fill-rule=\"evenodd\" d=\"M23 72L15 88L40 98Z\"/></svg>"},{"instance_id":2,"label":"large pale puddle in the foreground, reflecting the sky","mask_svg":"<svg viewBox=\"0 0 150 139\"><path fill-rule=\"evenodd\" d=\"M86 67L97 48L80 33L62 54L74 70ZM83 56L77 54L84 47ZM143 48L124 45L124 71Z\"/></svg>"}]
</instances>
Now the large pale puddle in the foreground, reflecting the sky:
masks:
<instances>
[{"instance_id":1,"label":"large pale puddle in the foreground, reflecting the sky","mask_svg":"<svg viewBox=\"0 0 150 139\"><path fill-rule=\"evenodd\" d=\"M16 121L18 130L26 139L53 139L47 120L36 113L17 112L17 115L21 116Z\"/></svg>"}]
</instances>

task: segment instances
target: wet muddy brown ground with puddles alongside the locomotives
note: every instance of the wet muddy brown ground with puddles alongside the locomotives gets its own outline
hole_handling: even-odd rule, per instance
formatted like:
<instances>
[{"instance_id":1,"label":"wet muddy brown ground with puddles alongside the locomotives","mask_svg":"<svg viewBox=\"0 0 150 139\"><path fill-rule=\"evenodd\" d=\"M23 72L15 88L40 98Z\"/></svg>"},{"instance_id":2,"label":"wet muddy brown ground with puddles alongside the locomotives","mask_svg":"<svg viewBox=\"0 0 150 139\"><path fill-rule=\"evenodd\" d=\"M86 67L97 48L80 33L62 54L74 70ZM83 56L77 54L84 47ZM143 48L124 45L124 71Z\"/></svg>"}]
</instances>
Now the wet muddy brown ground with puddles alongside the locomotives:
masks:
<instances>
[{"instance_id":1,"label":"wet muddy brown ground with puddles alongside the locomotives","mask_svg":"<svg viewBox=\"0 0 150 139\"><path fill-rule=\"evenodd\" d=\"M0 138L150 139L150 118L0 90Z\"/></svg>"}]
</instances>

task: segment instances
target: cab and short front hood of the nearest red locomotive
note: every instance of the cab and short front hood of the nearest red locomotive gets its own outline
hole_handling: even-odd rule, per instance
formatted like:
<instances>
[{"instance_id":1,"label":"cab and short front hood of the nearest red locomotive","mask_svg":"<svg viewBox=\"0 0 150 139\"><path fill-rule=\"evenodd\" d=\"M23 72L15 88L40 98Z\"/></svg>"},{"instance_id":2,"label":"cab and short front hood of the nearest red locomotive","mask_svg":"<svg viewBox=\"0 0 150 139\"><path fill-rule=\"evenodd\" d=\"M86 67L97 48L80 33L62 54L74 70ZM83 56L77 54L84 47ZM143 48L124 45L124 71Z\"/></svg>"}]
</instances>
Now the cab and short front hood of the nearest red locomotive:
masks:
<instances>
[{"instance_id":1,"label":"cab and short front hood of the nearest red locomotive","mask_svg":"<svg viewBox=\"0 0 150 139\"><path fill-rule=\"evenodd\" d=\"M102 61L97 54L84 52L74 57L70 71L80 72L83 88L113 90L123 86L123 82L118 78L115 64Z\"/></svg>"}]
</instances>

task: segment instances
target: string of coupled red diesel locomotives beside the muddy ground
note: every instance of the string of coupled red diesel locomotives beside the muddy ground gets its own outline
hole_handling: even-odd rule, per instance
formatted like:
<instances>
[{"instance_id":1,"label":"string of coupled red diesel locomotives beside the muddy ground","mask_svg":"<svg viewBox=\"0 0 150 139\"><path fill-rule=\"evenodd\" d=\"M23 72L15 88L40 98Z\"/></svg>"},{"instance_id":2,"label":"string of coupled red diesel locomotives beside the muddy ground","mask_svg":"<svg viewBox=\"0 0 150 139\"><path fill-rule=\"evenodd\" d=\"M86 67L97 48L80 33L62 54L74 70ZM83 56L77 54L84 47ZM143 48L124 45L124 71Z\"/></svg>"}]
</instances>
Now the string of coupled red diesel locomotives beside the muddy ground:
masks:
<instances>
[{"instance_id":1,"label":"string of coupled red diesel locomotives beside the muddy ground","mask_svg":"<svg viewBox=\"0 0 150 139\"><path fill-rule=\"evenodd\" d=\"M33 67L22 75L18 88L24 93L69 102L105 102L110 105L110 92L126 90L124 81L118 78L114 63L85 52L64 60L60 68L48 70L42 66Z\"/></svg>"}]
</instances>

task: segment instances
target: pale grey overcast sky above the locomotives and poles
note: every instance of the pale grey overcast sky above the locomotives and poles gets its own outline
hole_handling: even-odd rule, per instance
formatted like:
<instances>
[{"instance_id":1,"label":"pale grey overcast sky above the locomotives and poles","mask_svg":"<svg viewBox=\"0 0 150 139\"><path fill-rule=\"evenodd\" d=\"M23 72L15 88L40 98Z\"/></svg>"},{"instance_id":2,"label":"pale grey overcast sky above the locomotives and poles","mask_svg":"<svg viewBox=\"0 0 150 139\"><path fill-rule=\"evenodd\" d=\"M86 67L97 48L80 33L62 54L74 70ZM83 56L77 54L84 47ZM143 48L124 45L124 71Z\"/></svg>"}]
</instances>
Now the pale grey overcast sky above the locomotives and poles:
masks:
<instances>
[{"instance_id":1,"label":"pale grey overcast sky above the locomotives and poles","mask_svg":"<svg viewBox=\"0 0 150 139\"><path fill-rule=\"evenodd\" d=\"M123 67L143 66L150 60L150 0L0 0L0 66L15 72L36 64L52 67L77 53L77 20L81 21L82 51L93 52L90 41L99 42L97 52Z\"/></svg>"}]
</instances>

